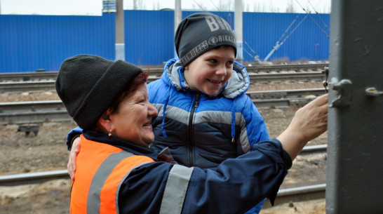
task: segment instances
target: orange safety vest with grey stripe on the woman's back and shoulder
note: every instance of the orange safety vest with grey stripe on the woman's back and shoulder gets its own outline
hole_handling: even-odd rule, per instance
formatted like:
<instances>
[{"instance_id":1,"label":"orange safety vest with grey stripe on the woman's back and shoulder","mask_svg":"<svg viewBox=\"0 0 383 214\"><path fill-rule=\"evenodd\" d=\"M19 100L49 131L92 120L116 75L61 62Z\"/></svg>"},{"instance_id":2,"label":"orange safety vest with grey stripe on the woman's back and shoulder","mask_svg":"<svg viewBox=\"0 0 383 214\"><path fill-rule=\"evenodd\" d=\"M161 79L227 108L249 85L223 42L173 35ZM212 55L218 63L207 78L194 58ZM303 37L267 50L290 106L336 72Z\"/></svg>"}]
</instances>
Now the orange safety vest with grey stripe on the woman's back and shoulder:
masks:
<instances>
[{"instance_id":1,"label":"orange safety vest with grey stripe on the woman's back and shoulder","mask_svg":"<svg viewBox=\"0 0 383 214\"><path fill-rule=\"evenodd\" d=\"M118 195L121 183L131 170L154 160L112 145L87 140L83 135L80 147L72 182L70 212L119 213Z\"/></svg>"}]
</instances>

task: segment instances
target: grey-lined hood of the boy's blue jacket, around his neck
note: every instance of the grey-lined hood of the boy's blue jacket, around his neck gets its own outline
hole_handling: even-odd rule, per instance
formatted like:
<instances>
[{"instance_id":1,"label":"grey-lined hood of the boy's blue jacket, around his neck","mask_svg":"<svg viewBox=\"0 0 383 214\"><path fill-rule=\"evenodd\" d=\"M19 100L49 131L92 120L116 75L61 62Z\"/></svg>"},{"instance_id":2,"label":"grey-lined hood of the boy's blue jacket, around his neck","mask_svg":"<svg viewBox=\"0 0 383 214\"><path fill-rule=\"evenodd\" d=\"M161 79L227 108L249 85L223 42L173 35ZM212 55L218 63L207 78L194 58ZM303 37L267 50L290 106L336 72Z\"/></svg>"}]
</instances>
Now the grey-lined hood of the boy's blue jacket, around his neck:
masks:
<instances>
[{"instance_id":1,"label":"grey-lined hood of the boy's blue jacket, around his neck","mask_svg":"<svg viewBox=\"0 0 383 214\"><path fill-rule=\"evenodd\" d=\"M166 62L164 69L165 72L163 72L161 77L163 81L174 86L178 91L190 89L184 80L184 67L182 67L178 58L173 58ZM227 81L226 85L217 95L222 94L225 98L233 99L248 91L249 87L250 79L246 67L243 67L238 62L234 62L233 74L231 74L229 81Z\"/></svg>"}]
</instances>

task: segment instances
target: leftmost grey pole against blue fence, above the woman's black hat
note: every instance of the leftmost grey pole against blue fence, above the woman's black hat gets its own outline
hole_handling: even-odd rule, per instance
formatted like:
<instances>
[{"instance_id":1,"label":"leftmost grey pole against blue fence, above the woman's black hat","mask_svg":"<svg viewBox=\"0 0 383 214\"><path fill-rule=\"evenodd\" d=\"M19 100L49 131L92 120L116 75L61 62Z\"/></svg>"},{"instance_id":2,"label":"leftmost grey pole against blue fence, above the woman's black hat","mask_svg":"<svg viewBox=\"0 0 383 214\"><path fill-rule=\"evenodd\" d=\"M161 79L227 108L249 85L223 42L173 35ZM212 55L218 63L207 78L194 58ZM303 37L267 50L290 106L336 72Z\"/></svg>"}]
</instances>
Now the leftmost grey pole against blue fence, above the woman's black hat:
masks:
<instances>
[{"instance_id":1,"label":"leftmost grey pole against blue fence, above the woman's black hat","mask_svg":"<svg viewBox=\"0 0 383 214\"><path fill-rule=\"evenodd\" d=\"M116 60L125 60L123 0L116 0Z\"/></svg>"}]
</instances>

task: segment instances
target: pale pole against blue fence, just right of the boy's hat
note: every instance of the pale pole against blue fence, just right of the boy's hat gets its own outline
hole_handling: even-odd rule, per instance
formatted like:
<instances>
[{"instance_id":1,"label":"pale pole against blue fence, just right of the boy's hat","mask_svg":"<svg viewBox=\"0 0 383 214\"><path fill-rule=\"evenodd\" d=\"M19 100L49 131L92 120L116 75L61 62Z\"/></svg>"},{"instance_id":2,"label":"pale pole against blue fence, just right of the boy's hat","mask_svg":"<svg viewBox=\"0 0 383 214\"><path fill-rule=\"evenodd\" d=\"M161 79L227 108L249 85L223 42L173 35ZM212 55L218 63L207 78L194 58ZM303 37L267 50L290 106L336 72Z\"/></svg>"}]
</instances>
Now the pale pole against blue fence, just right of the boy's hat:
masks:
<instances>
[{"instance_id":1,"label":"pale pole against blue fence, just right of the boy's hat","mask_svg":"<svg viewBox=\"0 0 383 214\"><path fill-rule=\"evenodd\" d=\"M243 39L242 39L242 13L243 13L243 5L242 0L235 1L235 9L234 9L234 34L236 35L236 60L241 62L243 60Z\"/></svg>"}]
</instances>

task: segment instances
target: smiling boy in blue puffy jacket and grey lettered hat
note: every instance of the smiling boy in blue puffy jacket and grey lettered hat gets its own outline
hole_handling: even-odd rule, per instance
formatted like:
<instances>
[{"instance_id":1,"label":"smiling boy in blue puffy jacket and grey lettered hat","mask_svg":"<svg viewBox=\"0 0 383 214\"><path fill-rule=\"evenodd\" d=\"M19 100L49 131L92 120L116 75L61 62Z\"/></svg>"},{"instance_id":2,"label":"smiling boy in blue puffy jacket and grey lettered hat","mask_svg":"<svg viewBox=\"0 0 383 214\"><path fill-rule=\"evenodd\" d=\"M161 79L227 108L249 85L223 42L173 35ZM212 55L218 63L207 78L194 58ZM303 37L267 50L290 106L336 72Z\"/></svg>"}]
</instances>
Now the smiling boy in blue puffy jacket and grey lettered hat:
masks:
<instances>
[{"instance_id":1,"label":"smiling boy in blue puffy jacket and grey lettered hat","mask_svg":"<svg viewBox=\"0 0 383 214\"><path fill-rule=\"evenodd\" d=\"M245 95L250 81L234 62L236 39L226 21L212 13L189 15L178 25L175 50L180 60L169 60L161 79L148 85L149 102L159 111L154 147L169 147L181 165L215 169L269 140ZM248 213L259 213L262 203Z\"/></svg>"}]
</instances>

